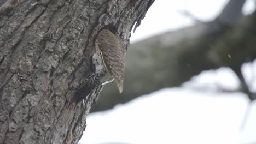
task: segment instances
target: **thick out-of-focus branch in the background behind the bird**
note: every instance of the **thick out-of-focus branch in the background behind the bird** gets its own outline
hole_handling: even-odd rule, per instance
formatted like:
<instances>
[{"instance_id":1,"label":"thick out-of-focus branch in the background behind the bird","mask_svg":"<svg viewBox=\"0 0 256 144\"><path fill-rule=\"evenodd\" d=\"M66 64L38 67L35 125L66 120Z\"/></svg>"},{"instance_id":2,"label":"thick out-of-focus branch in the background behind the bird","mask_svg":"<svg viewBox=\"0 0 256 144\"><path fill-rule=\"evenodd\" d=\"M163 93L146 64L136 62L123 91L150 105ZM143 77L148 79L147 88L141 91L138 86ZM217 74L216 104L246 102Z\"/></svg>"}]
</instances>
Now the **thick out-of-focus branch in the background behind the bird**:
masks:
<instances>
[{"instance_id":1,"label":"thick out-of-focus branch in the background behind the bird","mask_svg":"<svg viewBox=\"0 0 256 144\"><path fill-rule=\"evenodd\" d=\"M213 21L131 44L123 93L112 91L111 83L90 112L110 109L160 88L180 86L203 70L230 67L240 78L241 64L256 57L256 13L241 17L243 3L231 0ZM242 79L241 83L245 86ZM246 88L242 91L250 95Z\"/></svg>"}]
</instances>

